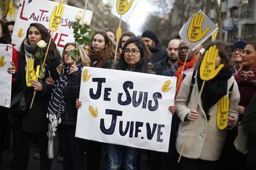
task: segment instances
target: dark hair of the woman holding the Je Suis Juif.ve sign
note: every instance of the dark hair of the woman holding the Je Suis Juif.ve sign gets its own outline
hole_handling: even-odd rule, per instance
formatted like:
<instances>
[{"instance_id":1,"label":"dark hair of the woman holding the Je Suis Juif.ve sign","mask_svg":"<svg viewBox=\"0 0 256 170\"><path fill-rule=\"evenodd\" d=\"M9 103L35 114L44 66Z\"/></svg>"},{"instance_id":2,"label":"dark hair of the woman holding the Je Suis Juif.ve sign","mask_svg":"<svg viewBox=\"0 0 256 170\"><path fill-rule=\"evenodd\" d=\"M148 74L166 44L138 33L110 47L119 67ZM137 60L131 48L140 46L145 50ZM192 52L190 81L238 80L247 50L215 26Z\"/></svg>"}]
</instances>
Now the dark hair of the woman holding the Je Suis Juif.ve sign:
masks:
<instances>
[{"instance_id":1,"label":"dark hair of the woman holding the Je Suis Juif.ve sign","mask_svg":"<svg viewBox=\"0 0 256 170\"><path fill-rule=\"evenodd\" d=\"M126 49L127 45L130 43L134 43L140 50L140 61L137 63L137 66L134 70L140 73L148 73L148 60L146 55L147 48L144 42L139 38L130 38L126 41L126 44L124 44L124 49ZM124 51L122 51L121 58L116 67L116 70L126 70L127 68L128 64L124 60Z\"/></svg>"}]
</instances>

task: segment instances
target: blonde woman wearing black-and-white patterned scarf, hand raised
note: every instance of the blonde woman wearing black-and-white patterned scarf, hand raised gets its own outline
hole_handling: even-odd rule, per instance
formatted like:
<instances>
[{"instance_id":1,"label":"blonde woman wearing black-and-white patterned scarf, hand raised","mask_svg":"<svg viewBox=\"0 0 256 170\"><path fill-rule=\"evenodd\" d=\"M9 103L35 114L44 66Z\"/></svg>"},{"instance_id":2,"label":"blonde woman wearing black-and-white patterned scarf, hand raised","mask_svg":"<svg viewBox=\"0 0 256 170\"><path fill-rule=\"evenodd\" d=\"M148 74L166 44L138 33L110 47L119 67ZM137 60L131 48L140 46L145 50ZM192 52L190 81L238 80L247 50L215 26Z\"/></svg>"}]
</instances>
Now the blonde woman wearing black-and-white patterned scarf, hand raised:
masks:
<instances>
[{"instance_id":1,"label":"blonde woman wearing black-and-white patterned scarf, hand raised","mask_svg":"<svg viewBox=\"0 0 256 170\"><path fill-rule=\"evenodd\" d=\"M75 100L79 98L80 79L83 66L90 65L90 59L82 47L77 47L79 57L74 60L69 52L75 49L74 43L67 43L62 53L62 73L55 81L48 107L51 130L56 132L58 123L59 145L63 156L63 169L85 169L85 140L75 137L77 109Z\"/></svg>"}]
</instances>

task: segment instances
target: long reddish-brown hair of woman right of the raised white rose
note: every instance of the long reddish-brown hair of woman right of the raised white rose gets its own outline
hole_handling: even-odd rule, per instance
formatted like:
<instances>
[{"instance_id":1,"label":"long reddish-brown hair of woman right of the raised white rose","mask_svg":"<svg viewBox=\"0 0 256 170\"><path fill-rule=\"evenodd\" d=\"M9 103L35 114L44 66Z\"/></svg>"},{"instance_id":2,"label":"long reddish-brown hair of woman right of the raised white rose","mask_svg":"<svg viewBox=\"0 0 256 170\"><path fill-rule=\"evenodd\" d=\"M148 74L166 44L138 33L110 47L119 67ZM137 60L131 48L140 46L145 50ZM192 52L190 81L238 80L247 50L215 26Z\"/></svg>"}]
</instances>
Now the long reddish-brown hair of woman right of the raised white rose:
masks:
<instances>
[{"instance_id":1,"label":"long reddish-brown hair of woman right of the raised white rose","mask_svg":"<svg viewBox=\"0 0 256 170\"><path fill-rule=\"evenodd\" d=\"M92 41L96 34L101 34L103 36L105 41L105 47L100 52L96 52L92 46L90 47L90 50L89 50L89 57L91 59L90 66L93 66L94 60L98 60L95 67L101 68L105 64L105 62L108 60L109 55L111 54L111 51L112 51L112 47L111 47L111 41L108 38L108 34L106 34L106 32L104 31L98 31L95 34L93 34Z\"/></svg>"}]
</instances>

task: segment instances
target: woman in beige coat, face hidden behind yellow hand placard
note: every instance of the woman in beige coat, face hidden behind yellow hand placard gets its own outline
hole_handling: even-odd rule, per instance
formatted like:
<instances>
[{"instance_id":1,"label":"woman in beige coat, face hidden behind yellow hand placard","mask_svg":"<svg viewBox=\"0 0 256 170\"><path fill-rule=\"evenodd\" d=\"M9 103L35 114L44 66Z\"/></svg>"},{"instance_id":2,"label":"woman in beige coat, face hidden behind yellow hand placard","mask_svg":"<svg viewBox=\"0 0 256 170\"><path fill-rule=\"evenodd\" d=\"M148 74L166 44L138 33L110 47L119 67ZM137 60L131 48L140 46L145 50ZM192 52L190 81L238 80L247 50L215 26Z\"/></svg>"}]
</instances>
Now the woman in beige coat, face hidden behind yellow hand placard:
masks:
<instances>
[{"instance_id":1,"label":"woman in beige coat, face hidden behind yellow hand placard","mask_svg":"<svg viewBox=\"0 0 256 170\"><path fill-rule=\"evenodd\" d=\"M176 113L181 119L176 148L182 155L182 169L214 169L226 129L236 124L240 95L232 76L230 55L228 44L211 42L202 67L182 82L176 99ZM190 91L192 79L195 84Z\"/></svg>"}]
</instances>

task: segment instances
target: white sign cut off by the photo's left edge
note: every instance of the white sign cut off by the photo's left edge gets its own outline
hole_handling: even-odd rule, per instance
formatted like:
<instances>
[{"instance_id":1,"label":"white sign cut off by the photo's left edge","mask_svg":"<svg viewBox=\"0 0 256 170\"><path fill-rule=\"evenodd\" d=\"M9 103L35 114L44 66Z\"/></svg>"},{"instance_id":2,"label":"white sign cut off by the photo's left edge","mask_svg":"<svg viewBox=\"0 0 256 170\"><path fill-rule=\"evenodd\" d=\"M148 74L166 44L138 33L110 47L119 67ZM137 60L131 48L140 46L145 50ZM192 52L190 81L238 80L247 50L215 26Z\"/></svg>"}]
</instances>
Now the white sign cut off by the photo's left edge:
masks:
<instances>
[{"instance_id":1,"label":"white sign cut off by the photo's left edge","mask_svg":"<svg viewBox=\"0 0 256 170\"><path fill-rule=\"evenodd\" d=\"M11 67L12 46L10 44L0 44L0 106L10 108L12 75L7 72Z\"/></svg>"}]
</instances>

